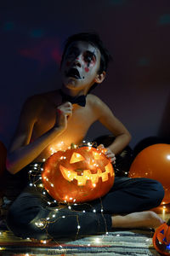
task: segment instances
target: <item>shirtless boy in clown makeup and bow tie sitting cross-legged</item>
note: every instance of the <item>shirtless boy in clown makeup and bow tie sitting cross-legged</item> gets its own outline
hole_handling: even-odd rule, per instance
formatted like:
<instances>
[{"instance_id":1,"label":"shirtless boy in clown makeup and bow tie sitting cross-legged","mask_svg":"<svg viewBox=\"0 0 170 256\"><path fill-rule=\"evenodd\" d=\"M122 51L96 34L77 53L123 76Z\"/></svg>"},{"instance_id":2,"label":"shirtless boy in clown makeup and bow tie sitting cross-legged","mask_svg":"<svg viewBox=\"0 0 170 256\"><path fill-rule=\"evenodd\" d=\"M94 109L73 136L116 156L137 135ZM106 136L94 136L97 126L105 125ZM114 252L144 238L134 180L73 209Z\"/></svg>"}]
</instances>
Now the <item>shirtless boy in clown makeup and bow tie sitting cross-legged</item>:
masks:
<instances>
[{"instance_id":1,"label":"shirtless boy in clown makeup and bow tie sitting cross-legged","mask_svg":"<svg viewBox=\"0 0 170 256\"><path fill-rule=\"evenodd\" d=\"M97 35L80 33L68 39L60 66L61 89L31 96L22 108L19 125L8 150L7 170L11 176L20 177L26 166L47 159L52 153L51 148L66 149L71 143L81 143L96 120L116 137L105 153L115 162L115 155L127 146L131 136L111 109L99 97L88 93L94 84L101 84L105 79L108 61L107 50ZM74 102L78 96L82 96L82 105L85 106ZM113 189L102 198L102 214L108 230L114 227L156 228L163 220L148 210L157 207L163 195L161 184L154 180L116 177ZM67 207L61 209L53 224L48 223L43 230L35 223L38 219L47 218L54 207L44 206L41 195L28 185L9 209L8 228L16 236L37 239L47 238L47 233L55 238L75 236L75 217L78 216L80 235L105 232L99 201L91 204L96 212L88 210L84 213L80 208L74 208L74 211ZM65 219L61 218L63 214Z\"/></svg>"}]
</instances>

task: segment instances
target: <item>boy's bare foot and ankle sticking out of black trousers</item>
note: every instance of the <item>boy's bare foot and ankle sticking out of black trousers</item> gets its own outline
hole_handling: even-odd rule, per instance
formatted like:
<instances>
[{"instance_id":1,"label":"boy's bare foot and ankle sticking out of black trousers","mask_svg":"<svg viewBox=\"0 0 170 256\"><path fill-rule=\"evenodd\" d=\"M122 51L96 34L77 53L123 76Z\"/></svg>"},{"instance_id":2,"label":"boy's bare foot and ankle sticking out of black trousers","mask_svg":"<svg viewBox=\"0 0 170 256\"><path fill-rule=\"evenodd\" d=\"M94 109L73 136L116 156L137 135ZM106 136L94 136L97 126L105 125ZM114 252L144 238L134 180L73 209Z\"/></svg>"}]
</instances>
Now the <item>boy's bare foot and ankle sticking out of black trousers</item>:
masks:
<instances>
[{"instance_id":1,"label":"boy's bare foot and ankle sticking out of black trousers","mask_svg":"<svg viewBox=\"0 0 170 256\"><path fill-rule=\"evenodd\" d=\"M156 214L156 212L133 212L127 215L112 216L113 228L152 228L156 229L164 221Z\"/></svg>"}]
</instances>

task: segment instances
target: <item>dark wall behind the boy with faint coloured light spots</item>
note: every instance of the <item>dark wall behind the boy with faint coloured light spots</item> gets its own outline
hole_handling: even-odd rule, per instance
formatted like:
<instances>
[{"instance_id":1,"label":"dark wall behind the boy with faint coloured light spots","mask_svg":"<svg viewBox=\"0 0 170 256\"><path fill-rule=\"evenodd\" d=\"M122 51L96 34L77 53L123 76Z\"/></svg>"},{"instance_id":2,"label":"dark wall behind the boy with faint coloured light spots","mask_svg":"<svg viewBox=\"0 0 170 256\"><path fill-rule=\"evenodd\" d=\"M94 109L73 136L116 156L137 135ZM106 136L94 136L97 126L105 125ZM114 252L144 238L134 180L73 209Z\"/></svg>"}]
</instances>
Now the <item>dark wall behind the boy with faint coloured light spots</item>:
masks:
<instances>
[{"instance_id":1,"label":"dark wall behind the boy with faint coloured light spots","mask_svg":"<svg viewBox=\"0 0 170 256\"><path fill-rule=\"evenodd\" d=\"M170 1L47 0L0 4L0 140L8 147L27 96L60 86L65 39L99 32L113 61L94 90L131 132L170 137ZM99 123L87 138L110 133Z\"/></svg>"}]
</instances>

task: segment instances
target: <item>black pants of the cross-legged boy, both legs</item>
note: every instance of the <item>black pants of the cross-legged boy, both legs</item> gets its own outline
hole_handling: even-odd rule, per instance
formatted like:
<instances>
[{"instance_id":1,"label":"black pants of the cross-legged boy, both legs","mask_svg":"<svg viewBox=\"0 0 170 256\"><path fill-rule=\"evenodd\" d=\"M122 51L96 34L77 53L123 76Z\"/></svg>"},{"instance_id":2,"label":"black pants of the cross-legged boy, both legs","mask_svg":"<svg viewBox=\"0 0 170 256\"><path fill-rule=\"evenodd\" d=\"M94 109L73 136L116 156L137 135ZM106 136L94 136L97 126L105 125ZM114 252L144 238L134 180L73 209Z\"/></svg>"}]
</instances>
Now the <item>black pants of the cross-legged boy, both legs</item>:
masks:
<instances>
[{"instance_id":1,"label":"black pants of the cross-legged boy, both legs","mask_svg":"<svg viewBox=\"0 0 170 256\"><path fill-rule=\"evenodd\" d=\"M103 198L59 208L49 207L37 189L27 186L9 208L7 224L15 236L23 238L105 234L111 231L111 214L149 210L159 206L163 196L161 183L156 180L116 177L111 191Z\"/></svg>"}]
</instances>

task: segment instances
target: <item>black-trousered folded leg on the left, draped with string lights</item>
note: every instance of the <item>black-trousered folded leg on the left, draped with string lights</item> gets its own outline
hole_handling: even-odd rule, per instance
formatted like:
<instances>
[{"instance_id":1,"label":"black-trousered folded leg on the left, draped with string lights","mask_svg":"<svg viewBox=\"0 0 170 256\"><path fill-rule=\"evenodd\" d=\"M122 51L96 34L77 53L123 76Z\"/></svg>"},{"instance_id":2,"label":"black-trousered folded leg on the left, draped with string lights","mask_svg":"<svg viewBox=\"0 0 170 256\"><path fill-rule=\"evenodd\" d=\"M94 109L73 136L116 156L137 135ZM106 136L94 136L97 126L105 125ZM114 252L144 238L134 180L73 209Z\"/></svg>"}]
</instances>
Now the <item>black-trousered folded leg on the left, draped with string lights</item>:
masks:
<instances>
[{"instance_id":1,"label":"black-trousered folded leg on the left, draped with string lights","mask_svg":"<svg viewBox=\"0 0 170 256\"><path fill-rule=\"evenodd\" d=\"M112 223L110 214L48 207L42 195L28 187L10 207L7 225L15 236L42 240L105 234Z\"/></svg>"}]
</instances>

